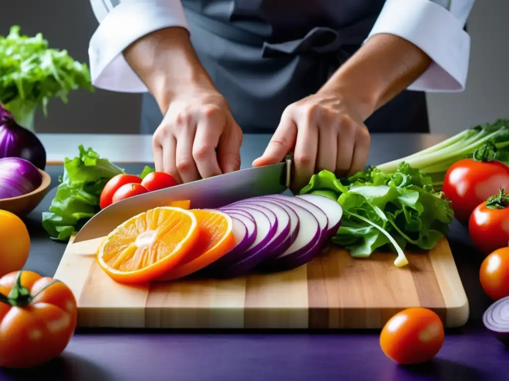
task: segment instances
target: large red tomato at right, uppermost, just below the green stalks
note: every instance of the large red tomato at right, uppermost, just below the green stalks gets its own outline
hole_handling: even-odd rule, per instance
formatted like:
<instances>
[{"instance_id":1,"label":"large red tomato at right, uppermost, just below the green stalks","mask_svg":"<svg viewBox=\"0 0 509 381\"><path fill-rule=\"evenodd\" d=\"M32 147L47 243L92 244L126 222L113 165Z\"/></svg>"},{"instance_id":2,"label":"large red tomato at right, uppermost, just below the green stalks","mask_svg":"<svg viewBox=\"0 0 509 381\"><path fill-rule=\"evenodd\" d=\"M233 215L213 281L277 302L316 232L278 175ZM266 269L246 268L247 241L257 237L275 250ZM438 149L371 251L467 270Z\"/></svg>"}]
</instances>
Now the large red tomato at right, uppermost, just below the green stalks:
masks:
<instances>
[{"instance_id":1,"label":"large red tomato at right, uppermost, just below the green stalks","mask_svg":"<svg viewBox=\"0 0 509 381\"><path fill-rule=\"evenodd\" d=\"M496 161L482 162L466 158L449 167L442 186L451 201L454 216L467 223L477 205L496 195L500 187L509 187L509 168Z\"/></svg>"}]
</instances>

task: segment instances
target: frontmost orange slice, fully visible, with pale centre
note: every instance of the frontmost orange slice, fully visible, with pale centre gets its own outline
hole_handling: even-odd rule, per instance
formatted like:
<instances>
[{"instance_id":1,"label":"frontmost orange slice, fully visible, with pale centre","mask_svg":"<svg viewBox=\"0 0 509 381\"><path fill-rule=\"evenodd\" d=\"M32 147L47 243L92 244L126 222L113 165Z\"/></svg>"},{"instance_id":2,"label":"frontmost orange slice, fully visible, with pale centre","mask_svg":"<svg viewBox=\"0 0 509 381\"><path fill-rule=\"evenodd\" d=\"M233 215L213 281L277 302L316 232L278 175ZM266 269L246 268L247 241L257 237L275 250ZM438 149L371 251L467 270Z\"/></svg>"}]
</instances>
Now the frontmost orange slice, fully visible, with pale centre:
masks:
<instances>
[{"instance_id":1,"label":"frontmost orange slice, fully visible, with pale centre","mask_svg":"<svg viewBox=\"0 0 509 381\"><path fill-rule=\"evenodd\" d=\"M198 238L194 213L175 207L154 208L129 218L108 234L97 251L97 262L120 283L141 283L175 267Z\"/></svg>"}]
</instances>

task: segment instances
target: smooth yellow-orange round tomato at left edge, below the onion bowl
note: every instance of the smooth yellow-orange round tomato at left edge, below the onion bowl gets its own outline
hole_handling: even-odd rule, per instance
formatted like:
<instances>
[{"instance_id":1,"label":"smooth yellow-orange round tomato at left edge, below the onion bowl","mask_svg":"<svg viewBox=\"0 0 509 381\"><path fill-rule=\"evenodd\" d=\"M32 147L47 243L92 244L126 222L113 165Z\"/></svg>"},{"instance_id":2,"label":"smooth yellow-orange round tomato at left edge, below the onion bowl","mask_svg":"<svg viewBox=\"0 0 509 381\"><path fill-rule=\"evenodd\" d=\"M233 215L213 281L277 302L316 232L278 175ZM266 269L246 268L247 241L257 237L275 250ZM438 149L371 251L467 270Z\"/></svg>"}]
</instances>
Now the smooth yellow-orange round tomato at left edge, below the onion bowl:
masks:
<instances>
[{"instance_id":1,"label":"smooth yellow-orange round tomato at left edge, below the onion bowl","mask_svg":"<svg viewBox=\"0 0 509 381\"><path fill-rule=\"evenodd\" d=\"M0 210L0 276L23 268L30 253L30 235L17 215Z\"/></svg>"}]
</instances>

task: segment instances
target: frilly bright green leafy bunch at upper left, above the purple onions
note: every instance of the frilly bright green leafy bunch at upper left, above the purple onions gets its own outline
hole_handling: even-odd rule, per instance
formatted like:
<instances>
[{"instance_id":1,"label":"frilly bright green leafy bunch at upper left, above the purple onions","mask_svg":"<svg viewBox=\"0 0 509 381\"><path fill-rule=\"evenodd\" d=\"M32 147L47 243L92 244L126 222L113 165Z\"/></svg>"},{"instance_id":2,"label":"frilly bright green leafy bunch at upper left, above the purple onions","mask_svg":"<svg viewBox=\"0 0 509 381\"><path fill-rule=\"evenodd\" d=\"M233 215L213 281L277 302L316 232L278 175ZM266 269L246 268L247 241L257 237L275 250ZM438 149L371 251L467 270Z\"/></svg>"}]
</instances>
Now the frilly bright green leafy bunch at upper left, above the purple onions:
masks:
<instances>
[{"instance_id":1,"label":"frilly bright green leafy bunch at upper left, above the purple onions","mask_svg":"<svg viewBox=\"0 0 509 381\"><path fill-rule=\"evenodd\" d=\"M7 37L0 36L0 102L19 124L24 126L38 106L46 115L51 98L67 103L71 90L93 91L87 65L66 50L50 49L40 33L29 37L19 31L13 25Z\"/></svg>"}]
</instances>

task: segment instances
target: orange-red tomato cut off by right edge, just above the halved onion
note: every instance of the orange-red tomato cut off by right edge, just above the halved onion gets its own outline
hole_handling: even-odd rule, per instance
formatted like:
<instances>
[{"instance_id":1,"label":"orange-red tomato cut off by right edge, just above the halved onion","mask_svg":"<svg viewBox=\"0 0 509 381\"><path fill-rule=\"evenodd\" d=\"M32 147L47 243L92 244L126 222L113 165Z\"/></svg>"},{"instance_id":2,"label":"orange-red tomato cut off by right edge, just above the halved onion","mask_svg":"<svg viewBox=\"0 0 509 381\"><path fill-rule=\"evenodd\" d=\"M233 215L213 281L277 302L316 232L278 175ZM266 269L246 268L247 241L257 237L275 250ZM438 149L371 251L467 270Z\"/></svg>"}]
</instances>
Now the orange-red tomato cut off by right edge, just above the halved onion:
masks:
<instances>
[{"instance_id":1,"label":"orange-red tomato cut off by right edge, just above the halved onion","mask_svg":"<svg viewBox=\"0 0 509 381\"><path fill-rule=\"evenodd\" d=\"M480 284L493 300L509 296L509 247L493 251L480 265Z\"/></svg>"}]
</instances>

